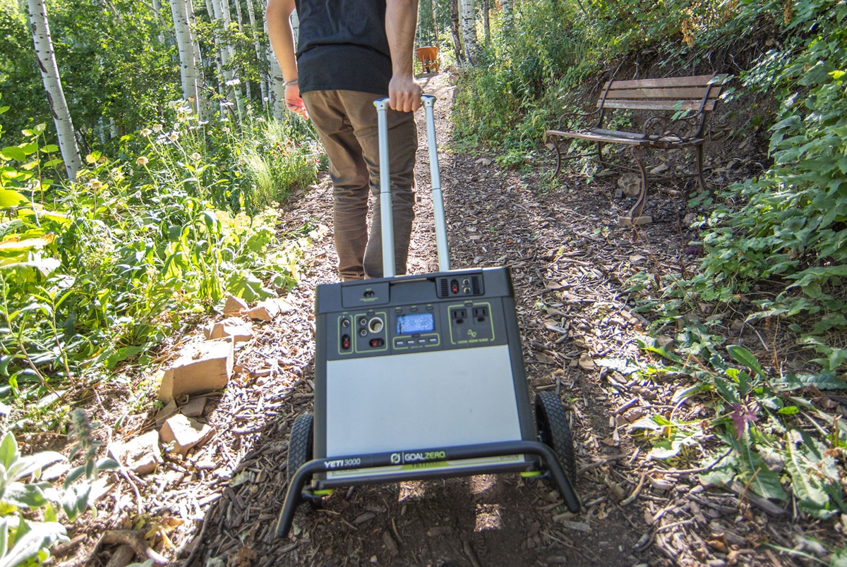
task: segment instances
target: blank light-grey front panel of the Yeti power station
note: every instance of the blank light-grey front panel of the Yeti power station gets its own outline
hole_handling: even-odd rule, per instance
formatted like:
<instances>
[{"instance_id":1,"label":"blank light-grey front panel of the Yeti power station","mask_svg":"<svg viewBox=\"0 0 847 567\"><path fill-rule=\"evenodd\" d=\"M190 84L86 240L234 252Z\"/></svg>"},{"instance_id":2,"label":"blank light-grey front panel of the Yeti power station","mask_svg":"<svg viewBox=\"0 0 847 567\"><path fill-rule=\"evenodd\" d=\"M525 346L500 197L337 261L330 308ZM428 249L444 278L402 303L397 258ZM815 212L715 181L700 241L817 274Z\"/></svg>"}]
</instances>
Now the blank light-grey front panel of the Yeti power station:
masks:
<instances>
[{"instance_id":1,"label":"blank light-grey front panel of the Yeti power station","mask_svg":"<svg viewBox=\"0 0 847 567\"><path fill-rule=\"evenodd\" d=\"M521 439L508 346L328 361L327 457Z\"/></svg>"}]
</instances>

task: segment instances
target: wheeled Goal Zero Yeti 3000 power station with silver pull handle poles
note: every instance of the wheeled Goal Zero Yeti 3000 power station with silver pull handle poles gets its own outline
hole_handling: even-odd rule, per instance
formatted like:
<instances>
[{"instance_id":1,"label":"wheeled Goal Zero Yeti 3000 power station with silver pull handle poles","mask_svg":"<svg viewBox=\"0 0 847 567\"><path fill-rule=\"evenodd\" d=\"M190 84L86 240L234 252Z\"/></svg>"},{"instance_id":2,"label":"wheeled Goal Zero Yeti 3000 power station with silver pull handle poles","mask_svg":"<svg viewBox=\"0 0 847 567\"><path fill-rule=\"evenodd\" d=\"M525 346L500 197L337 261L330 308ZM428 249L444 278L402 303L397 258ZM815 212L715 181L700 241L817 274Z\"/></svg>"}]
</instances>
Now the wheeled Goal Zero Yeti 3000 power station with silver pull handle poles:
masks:
<instances>
[{"instance_id":1,"label":"wheeled Goal Zero Yeti 3000 power station with silver pull handle poles","mask_svg":"<svg viewBox=\"0 0 847 567\"><path fill-rule=\"evenodd\" d=\"M379 162L388 163L388 99L374 104ZM450 269L434 106L425 95L439 272L395 276L381 168L385 277L318 285L314 415L291 428L277 537L298 504L336 487L448 476L545 476L579 512L562 403L541 392L530 405L508 269Z\"/></svg>"}]
</instances>

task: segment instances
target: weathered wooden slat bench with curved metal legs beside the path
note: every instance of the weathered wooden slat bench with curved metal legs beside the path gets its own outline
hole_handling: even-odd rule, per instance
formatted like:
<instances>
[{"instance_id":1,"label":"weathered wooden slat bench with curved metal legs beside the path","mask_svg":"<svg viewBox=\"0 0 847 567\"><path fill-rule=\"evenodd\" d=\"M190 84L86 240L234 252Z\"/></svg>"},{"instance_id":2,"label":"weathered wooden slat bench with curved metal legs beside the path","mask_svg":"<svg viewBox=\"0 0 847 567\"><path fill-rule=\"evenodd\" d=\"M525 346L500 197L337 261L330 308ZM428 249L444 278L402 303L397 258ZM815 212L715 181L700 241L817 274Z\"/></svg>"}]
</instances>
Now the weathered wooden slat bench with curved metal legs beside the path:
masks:
<instances>
[{"instance_id":1,"label":"weathered wooden slat bench with curved metal legs beside the path","mask_svg":"<svg viewBox=\"0 0 847 567\"><path fill-rule=\"evenodd\" d=\"M592 113L570 113L559 119L556 129L545 132L548 146L556 154L555 177L562 167L562 160L579 157L596 157L602 166L629 169L640 173L641 184L638 201L630 209L628 217L621 217L623 226L650 223L652 218L641 216L647 199L647 169L644 162L644 149L679 150L693 148L695 151L696 175L700 179L700 189L706 189L703 178L703 131L706 118L715 109L722 84L727 75L703 74L695 77L673 77L667 79L610 80L603 85L602 94L597 101L597 109ZM615 110L645 111L640 132L606 129L604 122ZM660 113L654 113L660 111ZM568 117L593 117L594 125L584 129L562 129ZM567 126L566 126L567 127ZM596 153L562 157L559 142L563 138L576 138L595 142ZM603 144L623 144L630 146L638 168L628 168L604 161Z\"/></svg>"}]
</instances>

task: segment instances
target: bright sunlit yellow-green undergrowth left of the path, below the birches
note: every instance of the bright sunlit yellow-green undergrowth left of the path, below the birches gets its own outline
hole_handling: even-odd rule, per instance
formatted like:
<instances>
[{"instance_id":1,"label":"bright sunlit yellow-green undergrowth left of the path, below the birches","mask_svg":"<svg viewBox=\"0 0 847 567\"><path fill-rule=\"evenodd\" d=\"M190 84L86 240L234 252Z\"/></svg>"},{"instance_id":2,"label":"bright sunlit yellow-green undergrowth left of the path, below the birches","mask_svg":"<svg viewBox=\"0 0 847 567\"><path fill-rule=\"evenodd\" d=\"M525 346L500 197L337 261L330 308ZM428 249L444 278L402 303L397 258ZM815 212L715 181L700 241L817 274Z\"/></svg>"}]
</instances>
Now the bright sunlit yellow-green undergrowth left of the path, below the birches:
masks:
<instances>
[{"instance_id":1,"label":"bright sunlit yellow-green undergrowth left of the path, below the birches","mask_svg":"<svg viewBox=\"0 0 847 567\"><path fill-rule=\"evenodd\" d=\"M274 162L297 172L275 180L281 199L285 183L314 179L308 129L263 118L235 135L172 106L172 128L125 136L115 160L89 154L75 184L44 174L61 162L43 124L0 149L0 376L20 403L61 401L57 389L143 363L226 293L255 300L296 284L307 239L275 233L277 213L264 209L243 157L268 129L308 149Z\"/></svg>"}]
</instances>

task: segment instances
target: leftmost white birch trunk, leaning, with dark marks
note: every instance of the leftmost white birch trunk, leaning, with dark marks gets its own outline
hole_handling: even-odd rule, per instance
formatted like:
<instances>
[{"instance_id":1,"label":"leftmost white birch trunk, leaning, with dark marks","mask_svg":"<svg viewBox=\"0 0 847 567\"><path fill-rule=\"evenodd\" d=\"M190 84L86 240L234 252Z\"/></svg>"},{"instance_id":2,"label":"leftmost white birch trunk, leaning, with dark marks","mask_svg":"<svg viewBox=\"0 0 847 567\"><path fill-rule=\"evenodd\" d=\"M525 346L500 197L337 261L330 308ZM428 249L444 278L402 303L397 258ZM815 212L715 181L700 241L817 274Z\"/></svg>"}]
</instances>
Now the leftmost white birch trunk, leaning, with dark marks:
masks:
<instances>
[{"instance_id":1,"label":"leftmost white birch trunk, leaning, with dark marks","mask_svg":"<svg viewBox=\"0 0 847 567\"><path fill-rule=\"evenodd\" d=\"M44 0L29 0L30 30L32 41L36 47L38 67L42 70L44 90L53 112L53 124L58 135L58 147L62 152L64 168L68 179L75 181L76 173L82 167L80 149L76 146L74 124L70 120L68 103L64 100L62 80L58 76L56 53L53 51L53 40L50 38L50 27L47 25L47 8Z\"/></svg>"}]
</instances>

